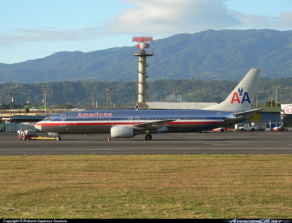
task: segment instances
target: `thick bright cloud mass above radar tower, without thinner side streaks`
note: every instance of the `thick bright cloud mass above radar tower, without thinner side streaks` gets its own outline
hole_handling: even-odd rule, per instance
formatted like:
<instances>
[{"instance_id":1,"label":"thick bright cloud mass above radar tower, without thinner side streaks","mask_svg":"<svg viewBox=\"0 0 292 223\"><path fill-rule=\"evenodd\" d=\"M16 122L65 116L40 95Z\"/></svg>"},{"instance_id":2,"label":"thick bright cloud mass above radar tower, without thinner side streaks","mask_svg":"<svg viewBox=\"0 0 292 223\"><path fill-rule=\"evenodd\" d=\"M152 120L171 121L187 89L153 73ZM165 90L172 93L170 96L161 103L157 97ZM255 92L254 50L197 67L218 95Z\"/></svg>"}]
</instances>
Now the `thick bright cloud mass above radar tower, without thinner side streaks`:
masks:
<instances>
[{"instance_id":1,"label":"thick bright cloud mass above radar tower, without thinner side streaks","mask_svg":"<svg viewBox=\"0 0 292 223\"><path fill-rule=\"evenodd\" d=\"M240 22L224 0L123 0L133 6L108 21L109 34L172 35L206 29L227 29Z\"/></svg>"}]
</instances>

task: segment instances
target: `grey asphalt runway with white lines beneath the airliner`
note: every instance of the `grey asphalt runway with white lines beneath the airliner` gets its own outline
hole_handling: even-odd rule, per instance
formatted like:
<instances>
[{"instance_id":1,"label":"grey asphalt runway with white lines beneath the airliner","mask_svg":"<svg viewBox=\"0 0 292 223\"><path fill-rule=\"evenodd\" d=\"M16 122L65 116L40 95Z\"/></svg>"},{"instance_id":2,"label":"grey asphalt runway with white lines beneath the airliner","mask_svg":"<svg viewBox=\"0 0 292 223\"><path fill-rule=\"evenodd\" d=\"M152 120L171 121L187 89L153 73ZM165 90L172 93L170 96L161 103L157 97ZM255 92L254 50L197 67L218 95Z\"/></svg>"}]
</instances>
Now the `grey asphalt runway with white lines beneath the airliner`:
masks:
<instances>
[{"instance_id":1,"label":"grey asphalt runway with white lines beneath the airliner","mask_svg":"<svg viewBox=\"0 0 292 223\"><path fill-rule=\"evenodd\" d=\"M39 136L48 137L46 133ZM292 131L154 134L118 139L109 134L61 135L61 140L18 140L0 134L0 155L292 154Z\"/></svg>"}]
</instances>

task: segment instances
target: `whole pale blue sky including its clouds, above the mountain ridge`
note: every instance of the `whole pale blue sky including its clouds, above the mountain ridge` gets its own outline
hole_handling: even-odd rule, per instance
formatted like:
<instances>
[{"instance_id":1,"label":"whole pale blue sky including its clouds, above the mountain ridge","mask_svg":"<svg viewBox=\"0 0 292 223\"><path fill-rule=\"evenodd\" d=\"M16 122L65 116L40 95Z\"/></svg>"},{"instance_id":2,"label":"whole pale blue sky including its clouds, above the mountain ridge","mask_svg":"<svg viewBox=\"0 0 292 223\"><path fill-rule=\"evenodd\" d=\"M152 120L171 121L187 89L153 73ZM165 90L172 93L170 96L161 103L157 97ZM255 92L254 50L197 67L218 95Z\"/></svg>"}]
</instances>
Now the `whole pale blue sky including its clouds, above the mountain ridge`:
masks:
<instances>
[{"instance_id":1,"label":"whole pale blue sky including its clouds, above the mountain ridge","mask_svg":"<svg viewBox=\"0 0 292 223\"><path fill-rule=\"evenodd\" d=\"M2 0L0 63L207 29L292 29L291 0Z\"/></svg>"}]
</instances>

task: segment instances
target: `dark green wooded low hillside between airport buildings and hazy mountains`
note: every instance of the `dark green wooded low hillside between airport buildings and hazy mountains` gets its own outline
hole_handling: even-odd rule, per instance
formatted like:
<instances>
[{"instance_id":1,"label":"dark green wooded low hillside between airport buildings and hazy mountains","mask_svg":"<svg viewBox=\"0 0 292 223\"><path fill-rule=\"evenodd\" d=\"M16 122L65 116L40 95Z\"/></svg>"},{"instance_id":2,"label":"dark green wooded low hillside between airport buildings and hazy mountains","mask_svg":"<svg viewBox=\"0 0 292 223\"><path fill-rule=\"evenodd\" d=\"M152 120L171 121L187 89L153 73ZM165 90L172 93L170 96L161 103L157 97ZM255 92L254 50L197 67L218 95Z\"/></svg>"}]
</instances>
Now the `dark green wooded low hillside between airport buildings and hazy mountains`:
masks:
<instances>
[{"instance_id":1,"label":"dark green wooded low hillside between airport buildings and hazy mountains","mask_svg":"<svg viewBox=\"0 0 292 223\"><path fill-rule=\"evenodd\" d=\"M237 80L239 83L239 80ZM4 105L10 105L10 95L7 94L12 88L13 97L15 98L14 106L21 104L21 93L23 103L30 101L31 104L43 104L44 87L48 90L46 94L47 105L51 108L61 104L67 104L74 107L92 108L94 99L98 106L106 106L107 94L104 92L106 87L112 88L112 93L109 94L109 100L115 106L128 106L131 100L131 106L135 106L138 95L136 82L48 82L48 83L33 83L33 84L15 84L2 83L0 84L0 96L3 98ZM178 87L177 87L178 86ZM269 98L275 98L276 91L272 86L281 86L277 90L277 103L292 103L292 78L282 78L271 81L266 77L261 77L258 80L256 90L260 91L258 95L258 106L264 106ZM178 94L178 101L185 102L222 102L231 92L231 87L234 87L234 81L227 80L198 80L198 79L180 79L166 80L160 79L149 82L147 94L148 101L174 101L174 88ZM250 96L252 97L252 96ZM252 100L252 98L251 98ZM256 102L255 102L256 105Z\"/></svg>"}]
</instances>

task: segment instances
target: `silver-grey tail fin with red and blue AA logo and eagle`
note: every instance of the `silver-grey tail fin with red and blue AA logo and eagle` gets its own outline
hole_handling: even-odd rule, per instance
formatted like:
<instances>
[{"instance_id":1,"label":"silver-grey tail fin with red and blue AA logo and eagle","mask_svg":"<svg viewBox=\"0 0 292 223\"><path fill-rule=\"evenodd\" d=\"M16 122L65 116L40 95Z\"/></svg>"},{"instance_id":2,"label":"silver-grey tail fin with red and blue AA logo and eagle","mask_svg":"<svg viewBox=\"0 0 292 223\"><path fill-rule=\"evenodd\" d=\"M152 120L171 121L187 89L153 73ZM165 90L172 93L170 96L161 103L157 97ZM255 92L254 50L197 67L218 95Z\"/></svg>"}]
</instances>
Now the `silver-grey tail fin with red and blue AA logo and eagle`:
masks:
<instances>
[{"instance_id":1,"label":"silver-grey tail fin with red and blue AA logo and eagle","mask_svg":"<svg viewBox=\"0 0 292 223\"><path fill-rule=\"evenodd\" d=\"M259 74L260 69L251 69L223 102L203 110L234 112L250 110Z\"/></svg>"}]
</instances>

